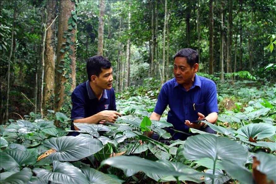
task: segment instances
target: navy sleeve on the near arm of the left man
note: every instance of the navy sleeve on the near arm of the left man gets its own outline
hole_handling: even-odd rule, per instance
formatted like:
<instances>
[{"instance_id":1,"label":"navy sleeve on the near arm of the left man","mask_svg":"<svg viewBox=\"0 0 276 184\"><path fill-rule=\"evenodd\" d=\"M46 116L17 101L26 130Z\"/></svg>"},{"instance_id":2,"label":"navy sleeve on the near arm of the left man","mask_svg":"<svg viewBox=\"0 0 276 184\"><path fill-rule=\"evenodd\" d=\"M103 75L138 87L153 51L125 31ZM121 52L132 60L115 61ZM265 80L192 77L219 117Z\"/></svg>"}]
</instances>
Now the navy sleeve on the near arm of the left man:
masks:
<instances>
[{"instance_id":1,"label":"navy sleeve on the near arm of the left man","mask_svg":"<svg viewBox=\"0 0 276 184\"><path fill-rule=\"evenodd\" d=\"M79 98L75 92L71 95L72 111L71 120L85 118L85 105L81 98Z\"/></svg>"}]
</instances>

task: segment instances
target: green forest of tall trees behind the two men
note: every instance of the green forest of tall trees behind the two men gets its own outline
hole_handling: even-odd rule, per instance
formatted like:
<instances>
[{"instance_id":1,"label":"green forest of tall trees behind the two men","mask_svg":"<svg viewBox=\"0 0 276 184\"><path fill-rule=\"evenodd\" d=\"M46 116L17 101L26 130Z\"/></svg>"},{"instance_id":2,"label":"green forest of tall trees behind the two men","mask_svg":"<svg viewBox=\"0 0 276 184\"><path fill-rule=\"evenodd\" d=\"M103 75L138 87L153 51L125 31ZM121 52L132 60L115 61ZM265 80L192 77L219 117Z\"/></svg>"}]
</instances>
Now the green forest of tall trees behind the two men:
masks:
<instances>
[{"instance_id":1,"label":"green forest of tall trees behind the two men","mask_svg":"<svg viewBox=\"0 0 276 184\"><path fill-rule=\"evenodd\" d=\"M173 55L186 47L200 55L199 74L220 89L248 80L275 86L273 0L0 3L1 124L52 112L69 117L70 94L97 54L112 62L121 100L156 99L173 77Z\"/></svg>"}]
</instances>

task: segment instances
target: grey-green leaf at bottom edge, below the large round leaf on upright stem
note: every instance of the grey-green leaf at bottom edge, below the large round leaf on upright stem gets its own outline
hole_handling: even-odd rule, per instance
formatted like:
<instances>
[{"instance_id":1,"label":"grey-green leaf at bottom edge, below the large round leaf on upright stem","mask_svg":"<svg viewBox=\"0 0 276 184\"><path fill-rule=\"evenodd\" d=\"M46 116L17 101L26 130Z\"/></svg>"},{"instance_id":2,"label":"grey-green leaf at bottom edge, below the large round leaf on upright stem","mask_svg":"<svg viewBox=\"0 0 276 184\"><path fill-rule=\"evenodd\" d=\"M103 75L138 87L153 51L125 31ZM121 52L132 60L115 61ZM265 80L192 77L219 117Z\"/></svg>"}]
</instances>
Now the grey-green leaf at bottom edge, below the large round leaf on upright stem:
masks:
<instances>
[{"instance_id":1,"label":"grey-green leaf at bottom edge, below the large round leaf on upright stem","mask_svg":"<svg viewBox=\"0 0 276 184\"><path fill-rule=\"evenodd\" d=\"M247 168L227 160L223 161L221 164L226 173L233 179L237 179L244 184L254 184L252 173Z\"/></svg>"}]
</instances>

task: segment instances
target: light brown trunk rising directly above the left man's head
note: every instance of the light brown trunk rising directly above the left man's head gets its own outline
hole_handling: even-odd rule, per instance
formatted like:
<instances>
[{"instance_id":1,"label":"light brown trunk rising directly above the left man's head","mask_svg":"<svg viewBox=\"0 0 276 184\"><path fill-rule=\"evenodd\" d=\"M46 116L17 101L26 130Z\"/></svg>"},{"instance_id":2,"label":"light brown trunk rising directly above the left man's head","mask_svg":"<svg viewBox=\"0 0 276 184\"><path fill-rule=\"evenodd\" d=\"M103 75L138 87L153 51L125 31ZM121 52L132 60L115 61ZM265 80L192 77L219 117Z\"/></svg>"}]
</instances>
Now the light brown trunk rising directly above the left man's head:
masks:
<instances>
[{"instance_id":1,"label":"light brown trunk rising directly above the left man's head","mask_svg":"<svg viewBox=\"0 0 276 184\"><path fill-rule=\"evenodd\" d=\"M104 15L105 15L105 0L100 0L100 16L98 28L98 55L103 55L104 48Z\"/></svg>"}]
</instances>

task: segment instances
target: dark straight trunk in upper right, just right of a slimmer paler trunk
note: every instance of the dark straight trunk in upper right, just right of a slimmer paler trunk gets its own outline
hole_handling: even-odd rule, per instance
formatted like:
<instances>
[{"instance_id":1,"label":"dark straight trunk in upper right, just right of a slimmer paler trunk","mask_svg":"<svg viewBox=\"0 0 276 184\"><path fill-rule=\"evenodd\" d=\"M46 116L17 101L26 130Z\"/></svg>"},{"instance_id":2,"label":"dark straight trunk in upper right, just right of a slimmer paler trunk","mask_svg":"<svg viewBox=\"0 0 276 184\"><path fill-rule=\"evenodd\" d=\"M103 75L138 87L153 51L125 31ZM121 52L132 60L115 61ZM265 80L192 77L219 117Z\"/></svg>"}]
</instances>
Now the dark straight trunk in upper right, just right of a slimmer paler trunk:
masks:
<instances>
[{"instance_id":1,"label":"dark straight trunk in upper right, just right of a slimmer paler trunk","mask_svg":"<svg viewBox=\"0 0 276 184\"><path fill-rule=\"evenodd\" d=\"M231 66L231 50L232 50L232 36L233 36L233 1L229 2L228 26L227 26L227 73L232 72Z\"/></svg>"}]
</instances>

